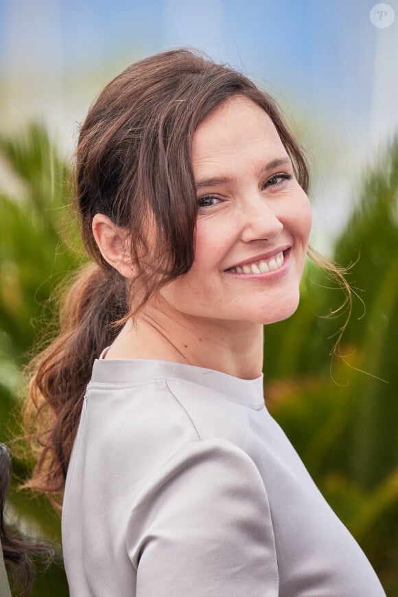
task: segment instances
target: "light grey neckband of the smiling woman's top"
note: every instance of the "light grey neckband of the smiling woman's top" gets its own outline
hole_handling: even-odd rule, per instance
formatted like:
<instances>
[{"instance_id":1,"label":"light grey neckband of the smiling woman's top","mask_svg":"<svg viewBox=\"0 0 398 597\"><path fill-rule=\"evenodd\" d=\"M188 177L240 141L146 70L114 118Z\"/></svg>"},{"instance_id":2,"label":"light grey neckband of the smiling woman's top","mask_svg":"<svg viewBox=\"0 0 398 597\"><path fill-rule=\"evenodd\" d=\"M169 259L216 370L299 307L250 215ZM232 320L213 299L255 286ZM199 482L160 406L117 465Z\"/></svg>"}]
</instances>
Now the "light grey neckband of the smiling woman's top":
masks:
<instances>
[{"instance_id":1,"label":"light grey neckband of the smiling woman's top","mask_svg":"<svg viewBox=\"0 0 398 597\"><path fill-rule=\"evenodd\" d=\"M106 350L95 359L91 384L128 386L154 379L180 379L252 408L264 406L263 373L255 379L242 379L211 368L160 359L105 359Z\"/></svg>"}]
</instances>

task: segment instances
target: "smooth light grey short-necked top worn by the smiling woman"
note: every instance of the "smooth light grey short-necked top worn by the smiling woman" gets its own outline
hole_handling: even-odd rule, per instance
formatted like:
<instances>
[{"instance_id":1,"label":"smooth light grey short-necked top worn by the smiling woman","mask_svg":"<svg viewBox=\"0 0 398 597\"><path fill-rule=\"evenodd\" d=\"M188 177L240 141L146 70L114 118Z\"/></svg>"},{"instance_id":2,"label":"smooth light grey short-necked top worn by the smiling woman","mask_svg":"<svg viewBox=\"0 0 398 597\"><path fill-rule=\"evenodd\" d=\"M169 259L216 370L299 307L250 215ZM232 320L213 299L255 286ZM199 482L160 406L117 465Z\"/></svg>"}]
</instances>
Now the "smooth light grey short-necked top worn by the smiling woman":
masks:
<instances>
[{"instance_id":1,"label":"smooth light grey short-necked top worn by the smiling woman","mask_svg":"<svg viewBox=\"0 0 398 597\"><path fill-rule=\"evenodd\" d=\"M383 597L263 376L95 361L67 474L71 597Z\"/></svg>"}]
</instances>

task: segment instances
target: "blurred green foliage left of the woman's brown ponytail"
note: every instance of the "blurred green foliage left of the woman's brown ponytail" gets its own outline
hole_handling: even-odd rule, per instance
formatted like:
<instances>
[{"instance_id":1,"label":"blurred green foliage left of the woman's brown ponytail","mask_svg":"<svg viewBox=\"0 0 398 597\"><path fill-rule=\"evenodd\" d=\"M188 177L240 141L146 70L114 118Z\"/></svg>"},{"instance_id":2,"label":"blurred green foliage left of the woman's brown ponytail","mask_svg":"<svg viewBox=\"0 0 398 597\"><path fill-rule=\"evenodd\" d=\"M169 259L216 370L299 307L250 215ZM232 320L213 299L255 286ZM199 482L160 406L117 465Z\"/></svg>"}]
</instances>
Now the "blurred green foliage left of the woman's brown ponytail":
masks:
<instances>
[{"instance_id":1,"label":"blurred green foliage left of the woman's brown ponytail","mask_svg":"<svg viewBox=\"0 0 398 597\"><path fill-rule=\"evenodd\" d=\"M19 138L0 138L0 154L23 189L19 196L0 194L0 440L12 451L11 440L21 433L21 369L34 340L51 336L49 296L81 257L78 231L65 218L68 168L45 130L32 125ZM13 466L14 478L25 478L30 463L14 458ZM60 519L43 498L12 491L10 502L30 532L60 543ZM35 595L46 594L67 595L59 562L38 578Z\"/></svg>"}]
</instances>

